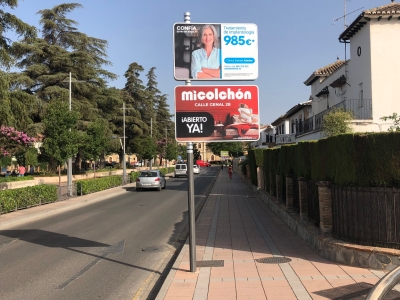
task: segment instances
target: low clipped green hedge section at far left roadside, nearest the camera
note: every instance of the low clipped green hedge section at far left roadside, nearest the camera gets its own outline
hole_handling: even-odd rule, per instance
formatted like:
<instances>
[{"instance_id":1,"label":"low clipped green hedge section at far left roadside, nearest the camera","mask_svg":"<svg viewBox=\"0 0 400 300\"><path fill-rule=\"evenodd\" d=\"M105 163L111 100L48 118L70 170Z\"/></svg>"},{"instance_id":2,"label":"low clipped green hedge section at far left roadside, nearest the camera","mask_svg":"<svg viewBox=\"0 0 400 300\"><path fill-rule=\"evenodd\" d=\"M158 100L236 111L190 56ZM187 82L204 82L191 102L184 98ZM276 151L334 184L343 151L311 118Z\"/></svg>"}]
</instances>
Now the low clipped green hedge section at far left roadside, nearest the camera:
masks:
<instances>
[{"instance_id":1,"label":"low clipped green hedge section at far left roadside, nearest the camera","mask_svg":"<svg viewBox=\"0 0 400 300\"><path fill-rule=\"evenodd\" d=\"M57 201L56 185L35 185L0 191L1 213Z\"/></svg>"}]
</instances>

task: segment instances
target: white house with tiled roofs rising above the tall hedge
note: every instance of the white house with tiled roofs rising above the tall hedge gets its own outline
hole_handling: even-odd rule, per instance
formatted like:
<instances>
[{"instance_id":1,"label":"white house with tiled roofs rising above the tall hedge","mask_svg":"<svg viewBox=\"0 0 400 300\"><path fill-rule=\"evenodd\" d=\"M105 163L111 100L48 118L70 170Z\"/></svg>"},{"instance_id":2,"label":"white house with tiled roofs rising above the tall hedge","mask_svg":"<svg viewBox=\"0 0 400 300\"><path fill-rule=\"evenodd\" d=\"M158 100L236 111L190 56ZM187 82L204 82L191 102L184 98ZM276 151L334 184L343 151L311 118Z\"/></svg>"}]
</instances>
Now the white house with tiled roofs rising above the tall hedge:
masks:
<instances>
[{"instance_id":1,"label":"white house with tiled roofs rising above the tall hedge","mask_svg":"<svg viewBox=\"0 0 400 300\"><path fill-rule=\"evenodd\" d=\"M314 71L304 84L311 88L311 112L296 141L320 139L324 115L335 108L352 111L355 132L386 131L381 120L400 113L400 4L364 10L339 36L350 57ZM273 124L273 123L272 123Z\"/></svg>"}]
</instances>

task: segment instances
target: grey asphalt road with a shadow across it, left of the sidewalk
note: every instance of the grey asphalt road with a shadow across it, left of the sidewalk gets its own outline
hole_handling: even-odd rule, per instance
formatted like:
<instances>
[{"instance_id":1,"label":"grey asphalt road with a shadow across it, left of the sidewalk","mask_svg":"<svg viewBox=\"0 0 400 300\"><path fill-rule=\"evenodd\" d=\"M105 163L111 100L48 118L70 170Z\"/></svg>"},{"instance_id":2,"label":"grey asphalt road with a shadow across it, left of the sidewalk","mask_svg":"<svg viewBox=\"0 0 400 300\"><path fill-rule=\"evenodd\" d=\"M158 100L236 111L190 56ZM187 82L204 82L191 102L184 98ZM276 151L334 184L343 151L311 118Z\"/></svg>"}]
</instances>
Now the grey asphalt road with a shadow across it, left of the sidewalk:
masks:
<instances>
[{"instance_id":1,"label":"grey asphalt road with a shadow across it, left of the sidewalk","mask_svg":"<svg viewBox=\"0 0 400 300\"><path fill-rule=\"evenodd\" d=\"M195 175L198 203L219 168ZM96 197L95 194L93 197ZM1 299L132 299L187 223L185 178L0 230Z\"/></svg>"}]
</instances>

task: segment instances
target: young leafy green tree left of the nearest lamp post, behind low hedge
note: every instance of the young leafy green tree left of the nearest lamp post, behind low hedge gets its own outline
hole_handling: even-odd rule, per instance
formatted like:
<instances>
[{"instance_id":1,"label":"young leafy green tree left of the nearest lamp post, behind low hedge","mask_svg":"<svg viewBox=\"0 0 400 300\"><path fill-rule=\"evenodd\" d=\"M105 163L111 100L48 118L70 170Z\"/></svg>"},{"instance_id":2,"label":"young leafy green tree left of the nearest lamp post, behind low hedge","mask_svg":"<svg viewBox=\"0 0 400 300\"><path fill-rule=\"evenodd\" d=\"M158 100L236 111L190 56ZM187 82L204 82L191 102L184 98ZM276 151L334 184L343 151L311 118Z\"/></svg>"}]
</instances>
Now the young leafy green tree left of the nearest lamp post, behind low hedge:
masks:
<instances>
[{"instance_id":1,"label":"young leafy green tree left of the nearest lamp post, behind low hedge","mask_svg":"<svg viewBox=\"0 0 400 300\"><path fill-rule=\"evenodd\" d=\"M70 111L68 103L54 100L46 109L43 119L45 125L43 150L59 167L59 185L61 185L61 165L69 157L78 153L83 142L82 134L76 128L79 113Z\"/></svg>"}]
</instances>

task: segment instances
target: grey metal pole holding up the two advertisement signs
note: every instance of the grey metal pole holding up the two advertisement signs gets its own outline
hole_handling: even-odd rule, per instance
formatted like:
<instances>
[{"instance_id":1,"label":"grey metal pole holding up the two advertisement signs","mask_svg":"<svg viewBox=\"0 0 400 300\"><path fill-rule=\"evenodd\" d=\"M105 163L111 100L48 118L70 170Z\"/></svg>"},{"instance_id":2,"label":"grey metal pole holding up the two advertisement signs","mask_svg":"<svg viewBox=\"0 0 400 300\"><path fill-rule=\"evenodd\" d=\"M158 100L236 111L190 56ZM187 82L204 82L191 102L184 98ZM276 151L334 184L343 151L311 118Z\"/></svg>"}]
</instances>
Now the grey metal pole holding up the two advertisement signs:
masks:
<instances>
[{"instance_id":1,"label":"grey metal pole holding up the two advertisement signs","mask_svg":"<svg viewBox=\"0 0 400 300\"><path fill-rule=\"evenodd\" d=\"M190 23L190 13L184 14L185 23ZM192 85L190 80L185 85ZM187 171L188 171L188 206L189 206L189 254L190 272L196 272L196 219L194 208L194 176L193 176L193 143L186 144L187 147Z\"/></svg>"}]
</instances>

